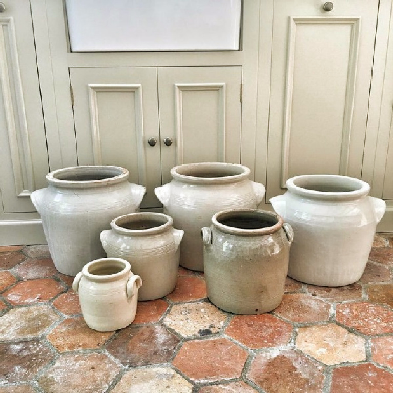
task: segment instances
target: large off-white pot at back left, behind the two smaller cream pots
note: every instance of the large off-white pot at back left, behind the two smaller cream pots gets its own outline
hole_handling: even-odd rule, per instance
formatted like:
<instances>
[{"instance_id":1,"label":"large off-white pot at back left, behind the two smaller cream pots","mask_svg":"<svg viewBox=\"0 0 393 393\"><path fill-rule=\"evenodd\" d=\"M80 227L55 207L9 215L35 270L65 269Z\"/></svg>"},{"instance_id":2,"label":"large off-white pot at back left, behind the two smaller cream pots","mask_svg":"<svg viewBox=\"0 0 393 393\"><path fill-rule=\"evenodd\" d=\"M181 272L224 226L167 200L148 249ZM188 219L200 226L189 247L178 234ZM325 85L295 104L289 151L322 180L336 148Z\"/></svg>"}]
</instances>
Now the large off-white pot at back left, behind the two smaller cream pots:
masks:
<instances>
[{"instance_id":1,"label":"large off-white pot at back left, behind the two smaller cream pots","mask_svg":"<svg viewBox=\"0 0 393 393\"><path fill-rule=\"evenodd\" d=\"M75 276L89 261L105 257L100 232L115 217L135 212L144 195L128 175L111 166L64 168L46 176L47 188L32 192L59 272Z\"/></svg>"}]
</instances>

